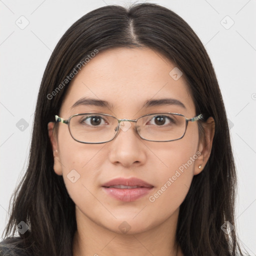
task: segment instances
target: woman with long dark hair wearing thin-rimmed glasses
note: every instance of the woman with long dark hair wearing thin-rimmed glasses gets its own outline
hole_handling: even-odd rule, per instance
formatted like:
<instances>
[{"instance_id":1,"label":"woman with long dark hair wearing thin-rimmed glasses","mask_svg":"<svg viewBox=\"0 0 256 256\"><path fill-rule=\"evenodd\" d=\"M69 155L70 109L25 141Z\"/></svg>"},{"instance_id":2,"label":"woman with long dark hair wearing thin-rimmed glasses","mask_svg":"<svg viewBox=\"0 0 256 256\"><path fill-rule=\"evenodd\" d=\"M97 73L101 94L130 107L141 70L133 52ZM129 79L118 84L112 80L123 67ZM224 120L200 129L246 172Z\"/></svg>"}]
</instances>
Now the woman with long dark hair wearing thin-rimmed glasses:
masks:
<instances>
[{"instance_id":1,"label":"woman with long dark hair wearing thin-rimmed glasses","mask_svg":"<svg viewBox=\"0 0 256 256\"><path fill-rule=\"evenodd\" d=\"M196 34L157 4L101 7L46 66L2 255L241 255L235 183Z\"/></svg>"}]
</instances>

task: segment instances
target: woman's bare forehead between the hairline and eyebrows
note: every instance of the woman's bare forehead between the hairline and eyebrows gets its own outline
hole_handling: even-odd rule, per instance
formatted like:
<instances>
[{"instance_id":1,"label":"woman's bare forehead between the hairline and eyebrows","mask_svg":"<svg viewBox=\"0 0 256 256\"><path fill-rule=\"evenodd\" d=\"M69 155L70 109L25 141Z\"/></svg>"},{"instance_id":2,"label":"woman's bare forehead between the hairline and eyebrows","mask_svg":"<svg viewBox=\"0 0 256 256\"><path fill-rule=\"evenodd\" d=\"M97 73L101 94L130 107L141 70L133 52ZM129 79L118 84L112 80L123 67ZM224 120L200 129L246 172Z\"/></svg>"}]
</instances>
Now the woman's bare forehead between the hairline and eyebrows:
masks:
<instances>
[{"instance_id":1,"label":"woman's bare forehead between the hairline and eyebrows","mask_svg":"<svg viewBox=\"0 0 256 256\"><path fill-rule=\"evenodd\" d=\"M83 97L107 101L98 104L102 110L111 108L127 114L137 112L148 100L171 98L185 106L184 114L192 114L194 104L185 78L174 79L173 68L177 67L170 60L147 47L100 51L72 78L60 112L76 113L79 104L75 103Z\"/></svg>"}]
</instances>

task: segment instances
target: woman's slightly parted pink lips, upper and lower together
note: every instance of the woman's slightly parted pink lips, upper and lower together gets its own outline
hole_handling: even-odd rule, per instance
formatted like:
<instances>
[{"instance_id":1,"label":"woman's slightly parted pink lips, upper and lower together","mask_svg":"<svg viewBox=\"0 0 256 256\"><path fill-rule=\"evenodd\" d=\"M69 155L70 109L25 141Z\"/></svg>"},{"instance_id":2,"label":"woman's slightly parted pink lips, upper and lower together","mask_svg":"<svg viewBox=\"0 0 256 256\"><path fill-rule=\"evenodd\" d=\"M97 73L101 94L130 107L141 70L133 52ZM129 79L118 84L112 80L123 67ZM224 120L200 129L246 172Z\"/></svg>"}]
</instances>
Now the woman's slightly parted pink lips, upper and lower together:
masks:
<instances>
[{"instance_id":1,"label":"woman's slightly parted pink lips, upper and lower together","mask_svg":"<svg viewBox=\"0 0 256 256\"><path fill-rule=\"evenodd\" d=\"M138 178L115 178L102 185L107 195L125 202L135 201L146 195L153 185Z\"/></svg>"}]
</instances>

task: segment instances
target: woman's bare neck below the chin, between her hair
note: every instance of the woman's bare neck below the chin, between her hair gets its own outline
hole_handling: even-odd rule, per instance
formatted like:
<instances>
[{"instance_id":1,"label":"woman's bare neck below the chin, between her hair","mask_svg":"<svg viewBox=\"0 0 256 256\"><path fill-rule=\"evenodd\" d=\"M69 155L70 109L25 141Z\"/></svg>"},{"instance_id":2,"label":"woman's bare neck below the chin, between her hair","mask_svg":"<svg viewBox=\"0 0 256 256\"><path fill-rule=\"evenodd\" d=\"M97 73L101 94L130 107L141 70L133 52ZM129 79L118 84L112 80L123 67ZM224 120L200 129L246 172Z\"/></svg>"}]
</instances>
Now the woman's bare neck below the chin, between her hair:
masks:
<instances>
[{"instance_id":1,"label":"woman's bare neck below the chin, between her hair","mask_svg":"<svg viewBox=\"0 0 256 256\"><path fill-rule=\"evenodd\" d=\"M76 208L77 230L73 237L73 256L182 256L175 242L177 217L178 210L154 228L123 234L98 225Z\"/></svg>"}]
</instances>

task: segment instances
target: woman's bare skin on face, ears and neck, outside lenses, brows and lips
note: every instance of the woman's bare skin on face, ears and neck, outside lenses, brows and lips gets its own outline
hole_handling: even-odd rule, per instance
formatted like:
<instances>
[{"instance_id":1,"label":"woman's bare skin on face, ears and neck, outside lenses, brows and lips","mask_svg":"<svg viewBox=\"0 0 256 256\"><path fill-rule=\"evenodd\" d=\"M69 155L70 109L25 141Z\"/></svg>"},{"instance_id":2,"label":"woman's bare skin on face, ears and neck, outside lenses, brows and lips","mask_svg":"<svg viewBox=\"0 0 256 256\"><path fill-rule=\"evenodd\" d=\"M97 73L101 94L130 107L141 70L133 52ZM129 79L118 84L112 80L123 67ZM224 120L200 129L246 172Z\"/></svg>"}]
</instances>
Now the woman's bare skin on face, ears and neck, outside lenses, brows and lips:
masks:
<instances>
[{"instance_id":1,"label":"woman's bare skin on face, ears and neck, outside lenses, brows and lips","mask_svg":"<svg viewBox=\"0 0 256 256\"><path fill-rule=\"evenodd\" d=\"M148 113L176 112L191 118L196 115L194 103L184 77L174 80L169 75L174 67L160 53L146 47L99 52L72 79L59 116L68 119L75 113L101 112L136 119ZM70 109L84 96L106 100L112 108L81 105ZM178 105L142 107L145 100L166 97L180 100L186 109ZM208 160L214 120L210 117L204 125L205 141L199 139L197 122L188 122L184 137L169 142L143 140L136 134L135 123L130 124L110 142L83 144L71 137L66 124L59 123L53 132L54 123L48 123L54 171L63 175L76 205L73 255L182 255L175 246L179 205L193 175L203 170L198 166ZM149 201L149 196L197 151L197 159L158 198ZM74 183L67 178L72 169L80 174ZM135 201L119 201L101 187L116 177L137 177L154 187ZM119 229L123 221L130 227L125 233Z\"/></svg>"}]
</instances>

